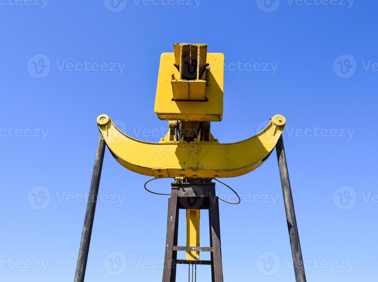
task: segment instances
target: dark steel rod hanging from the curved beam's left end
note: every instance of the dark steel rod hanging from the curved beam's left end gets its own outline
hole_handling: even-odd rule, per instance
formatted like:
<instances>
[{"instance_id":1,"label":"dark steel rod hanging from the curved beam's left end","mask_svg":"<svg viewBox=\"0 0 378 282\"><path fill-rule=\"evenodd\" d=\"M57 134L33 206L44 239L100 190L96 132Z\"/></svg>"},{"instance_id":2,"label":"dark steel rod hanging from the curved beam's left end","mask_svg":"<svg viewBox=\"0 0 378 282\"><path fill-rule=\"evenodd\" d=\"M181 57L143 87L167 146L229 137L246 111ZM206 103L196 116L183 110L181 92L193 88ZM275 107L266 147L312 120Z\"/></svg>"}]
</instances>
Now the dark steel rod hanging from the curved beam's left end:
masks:
<instances>
[{"instance_id":1,"label":"dark steel rod hanging from the curved beam's left end","mask_svg":"<svg viewBox=\"0 0 378 282\"><path fill-rule=\"evenodd\" d=\"M93 167L91 187L89 190L87 210L85 212L84 227L81 234L79 257L77 258L74 282L84 282L85 269L87 268L89 245L91 241L93 219L95 218L98 187L100 185L102 162L104 161L105 141L102 135L98 140L95 165Z\"/></svg>"}]
</instances>

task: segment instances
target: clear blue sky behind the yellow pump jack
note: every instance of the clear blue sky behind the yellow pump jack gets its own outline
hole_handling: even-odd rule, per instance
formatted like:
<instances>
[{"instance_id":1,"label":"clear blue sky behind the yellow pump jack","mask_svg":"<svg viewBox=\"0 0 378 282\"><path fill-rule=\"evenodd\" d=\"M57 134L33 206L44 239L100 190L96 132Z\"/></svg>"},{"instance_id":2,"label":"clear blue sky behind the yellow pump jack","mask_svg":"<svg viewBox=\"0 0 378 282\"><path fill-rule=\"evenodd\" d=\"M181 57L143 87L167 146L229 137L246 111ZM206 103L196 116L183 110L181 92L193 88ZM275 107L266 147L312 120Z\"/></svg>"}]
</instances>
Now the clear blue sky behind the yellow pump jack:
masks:
<instances>
[{"instance_id":1,"label":"clear blue sky behind the yellow pump jack","mask_svg":"<svg viewBox=\"0 0 378 282\"><path fill-rule=\"evenodd\" d=\"M153 111L160 54L191 42L225 54L223 120L211 128L220 142L255 135L275 114L287 118L307 280L376 281L377 8L351 0L0 0L0 280L73 281L96 117L158 142L168 128ZM167 198L147 193L148 179L105 152L86 281L161 281ZM238 206L220 203L225 281L294 281L275 153L224 181L242 196ZM169 192L169 182L150 187ZM233 200L218 183L217 191ZM187 281L187 268L177 280ZM208 267L197 281L209 281Z\"/></svg>"}]
</instances>

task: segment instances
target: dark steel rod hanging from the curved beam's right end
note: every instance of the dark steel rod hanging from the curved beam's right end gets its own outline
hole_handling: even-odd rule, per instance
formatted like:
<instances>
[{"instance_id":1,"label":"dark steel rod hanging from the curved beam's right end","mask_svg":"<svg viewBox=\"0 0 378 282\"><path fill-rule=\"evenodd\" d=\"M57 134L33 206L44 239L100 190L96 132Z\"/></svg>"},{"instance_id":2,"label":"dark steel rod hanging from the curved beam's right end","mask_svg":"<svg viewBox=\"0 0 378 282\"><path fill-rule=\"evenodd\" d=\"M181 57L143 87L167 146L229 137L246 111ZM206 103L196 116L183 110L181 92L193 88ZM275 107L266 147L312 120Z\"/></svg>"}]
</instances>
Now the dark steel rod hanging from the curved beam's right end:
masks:
<instances>
[{"instance_id":1,"label":"dark steel rod hanging from the curved beam's right end","mask_svg":"<svg viewBox=\"0 0 378 282\"><path fill-rule=\"evenodd\" d=\"M287 169L285 148L283 147L282 136L276 145L278 167L280 170L283 202L285 203L285 211L287 218L287 226L289 229L289 238L291 245L291 254L293 255L293 265L296 282L306 282L305 269L303 265L301 243L299 242L298 226L295 217L293 195L291 194L289 173Z\"/></svg>"}]
</instances>

